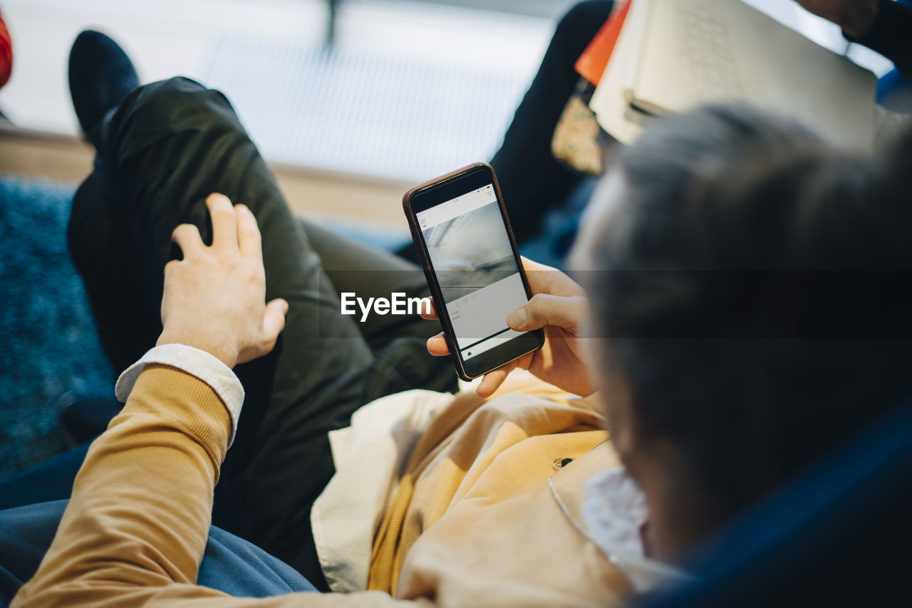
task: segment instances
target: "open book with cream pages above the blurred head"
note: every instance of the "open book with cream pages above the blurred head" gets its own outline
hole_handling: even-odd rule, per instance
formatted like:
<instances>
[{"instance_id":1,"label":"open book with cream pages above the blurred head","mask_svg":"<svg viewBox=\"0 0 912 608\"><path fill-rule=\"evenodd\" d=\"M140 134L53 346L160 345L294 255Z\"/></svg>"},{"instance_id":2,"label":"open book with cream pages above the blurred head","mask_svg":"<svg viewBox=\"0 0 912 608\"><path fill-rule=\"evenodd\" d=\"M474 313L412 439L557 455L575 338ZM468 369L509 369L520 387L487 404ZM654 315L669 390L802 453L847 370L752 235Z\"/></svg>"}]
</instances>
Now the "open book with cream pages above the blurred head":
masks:
<instances>
[{"instance_id":1,"label":"open book with cream pages above the blurred head","mask_svg":"<svg viewBox=\"0 0 912 608\"><path fill-rule=\"evenodd\" d=\"M803 121L838 145L870 149L876 77L741 0L627 0L590 103L624 143L650 119L741 100Z\"/></svg>"}]
</instances>

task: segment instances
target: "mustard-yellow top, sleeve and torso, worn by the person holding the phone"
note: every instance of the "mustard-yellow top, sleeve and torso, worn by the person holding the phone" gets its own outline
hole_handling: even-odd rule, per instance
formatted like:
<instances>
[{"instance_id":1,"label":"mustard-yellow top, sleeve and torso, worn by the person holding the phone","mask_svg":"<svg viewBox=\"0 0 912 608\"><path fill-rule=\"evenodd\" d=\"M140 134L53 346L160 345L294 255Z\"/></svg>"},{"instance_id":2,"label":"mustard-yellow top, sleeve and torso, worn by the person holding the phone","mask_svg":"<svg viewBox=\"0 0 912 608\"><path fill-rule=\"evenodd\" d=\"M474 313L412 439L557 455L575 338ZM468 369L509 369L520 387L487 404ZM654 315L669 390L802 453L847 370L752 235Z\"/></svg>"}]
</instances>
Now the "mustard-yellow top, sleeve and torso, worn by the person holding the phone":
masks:
<instances>
[{"instance_id":1,"label":"mustard-yellow top, sleeve and torso, worn by the person holding the phone","mask_svg":"<svg viewBox=\"0 0 912 608\"><path fill-rule=\"evenodd\" d=\"M420 440L378 530L378 591L231 598L193 584L230 417L195 376L147 365L89 449L57 537L13 605L619 603L627 580L580 514L586 479L617 466L598 408L541 383L512 388L523 392L455 397Z\"/></svg>"}]
</instances>

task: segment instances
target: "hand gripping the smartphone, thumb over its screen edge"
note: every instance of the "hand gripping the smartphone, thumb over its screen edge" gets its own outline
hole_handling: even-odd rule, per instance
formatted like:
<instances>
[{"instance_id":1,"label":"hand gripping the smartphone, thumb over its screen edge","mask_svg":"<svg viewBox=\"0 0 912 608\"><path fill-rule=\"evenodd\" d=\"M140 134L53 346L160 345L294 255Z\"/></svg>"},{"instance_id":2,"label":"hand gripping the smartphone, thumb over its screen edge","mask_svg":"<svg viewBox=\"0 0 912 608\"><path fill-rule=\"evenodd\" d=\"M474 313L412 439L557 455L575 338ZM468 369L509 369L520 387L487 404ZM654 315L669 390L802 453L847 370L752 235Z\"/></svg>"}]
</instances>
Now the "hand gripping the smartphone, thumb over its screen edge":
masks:
<instances>
[{"instance_id":1,"label":"hand gripping the smartphone, thumb over its screen edge","mask_svg":"<svg viewBox=\"0 0 912 608\"><path fill-rule=\"evenodd\" d=\"M523 258L523 268L534 295L527 304L508 314L506 322L517 331L544 327L544 346L486 374L476 389L478 395L490 397L517 367L528 369L545 382L575 395L589 395L595 386L586 370L585 356L577 337L586 316L583 288L550 266ZM437 313L434 310L421 316L436 319ZM433 356L450 354L443 334L428 340L428 352Z\"/></svg>"}]
</instances>

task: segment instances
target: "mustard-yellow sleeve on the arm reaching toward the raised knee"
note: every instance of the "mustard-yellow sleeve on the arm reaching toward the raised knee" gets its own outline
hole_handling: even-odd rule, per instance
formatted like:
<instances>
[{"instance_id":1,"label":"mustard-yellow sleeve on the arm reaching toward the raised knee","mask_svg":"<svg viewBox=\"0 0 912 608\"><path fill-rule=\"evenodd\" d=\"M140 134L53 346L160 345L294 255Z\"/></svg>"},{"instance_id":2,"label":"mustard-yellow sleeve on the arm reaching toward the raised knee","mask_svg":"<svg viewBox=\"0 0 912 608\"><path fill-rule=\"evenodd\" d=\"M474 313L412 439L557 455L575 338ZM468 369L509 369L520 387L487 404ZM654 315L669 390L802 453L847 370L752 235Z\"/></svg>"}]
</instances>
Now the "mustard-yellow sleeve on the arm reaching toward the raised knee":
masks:
<instances>
[{"instance_id":1,"label":"mustard-yellow sleeve on the arm reaching toward the raised knee","mask_svg":"<svg viewBox=\"0 0 912 608\"><path fill-rule=\"evenodd\" d=\"M210 386L170 366L146 366L88 450L57 536L13 605L399 604L386 593L230 598L194 584L230 425Z\"/></svg>"}]
</instances>

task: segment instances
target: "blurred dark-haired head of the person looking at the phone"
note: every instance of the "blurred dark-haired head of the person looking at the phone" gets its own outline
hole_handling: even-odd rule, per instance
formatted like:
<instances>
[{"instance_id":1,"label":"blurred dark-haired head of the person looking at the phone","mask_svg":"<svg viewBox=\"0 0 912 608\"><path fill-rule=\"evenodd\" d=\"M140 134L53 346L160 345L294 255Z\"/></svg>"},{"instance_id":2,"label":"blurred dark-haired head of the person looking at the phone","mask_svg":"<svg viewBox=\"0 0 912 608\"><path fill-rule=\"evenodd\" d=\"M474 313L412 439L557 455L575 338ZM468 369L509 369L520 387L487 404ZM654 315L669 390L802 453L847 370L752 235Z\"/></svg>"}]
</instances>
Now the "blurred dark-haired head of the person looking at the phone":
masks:
<instances>
[{"instance_id":1,"label":"blurred dark-haired head of the person looking at the phone","mask_svg":"<svg viewBox=\"0 0 912 608\"><path fill-rule=\"evenodd\" d=\"M679 447L716 516L912 396L912 134L850 153L716 106L618 162L624 201L581 278L637 436Z\"/></svg>"}]
</instances>

